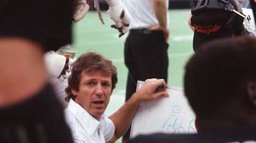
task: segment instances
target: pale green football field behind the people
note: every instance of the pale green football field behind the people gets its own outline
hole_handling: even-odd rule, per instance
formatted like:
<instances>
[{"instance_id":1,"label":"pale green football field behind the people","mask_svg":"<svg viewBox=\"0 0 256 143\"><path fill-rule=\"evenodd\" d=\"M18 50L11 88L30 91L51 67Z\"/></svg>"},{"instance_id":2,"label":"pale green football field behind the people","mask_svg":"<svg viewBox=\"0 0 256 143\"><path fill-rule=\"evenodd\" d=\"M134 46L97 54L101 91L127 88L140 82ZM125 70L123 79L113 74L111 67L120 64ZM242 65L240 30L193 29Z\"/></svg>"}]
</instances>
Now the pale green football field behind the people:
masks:
<instances>
[{"instance_id":1,"label":"pale green football field behind the people","mask_svg":"<svg viewBox=\"0 0 256 143\"><path fill-rule=\"evenodd\" d=\"M169 10L168 85L173 87L183 87L183 68L193 54L193 32L187 24L189 15L190 10ZM103 12L103 18L105 25L101 24L96 12L90 12L82 21L74 24L73 47L77 50L76 57L85 52L98 52L111 59L118 68L118 84L106 111L110 115L124 103L127 78L124 41L127 34L118 38L117 30L110 28L113 21L106 12Z\"/></svg>"}]
</instances>

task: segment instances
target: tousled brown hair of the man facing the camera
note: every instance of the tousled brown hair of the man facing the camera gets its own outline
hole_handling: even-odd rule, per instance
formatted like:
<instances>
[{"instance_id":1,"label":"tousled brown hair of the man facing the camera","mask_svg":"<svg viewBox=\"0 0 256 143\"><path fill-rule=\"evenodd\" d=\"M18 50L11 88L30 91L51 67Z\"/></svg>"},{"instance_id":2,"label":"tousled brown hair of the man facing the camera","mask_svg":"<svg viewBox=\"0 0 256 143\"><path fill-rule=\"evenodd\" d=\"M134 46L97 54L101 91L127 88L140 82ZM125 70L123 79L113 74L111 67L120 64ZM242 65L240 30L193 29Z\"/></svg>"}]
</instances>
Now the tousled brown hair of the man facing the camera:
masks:
<instances>
[{"instance_id":1,"label":"tousled brown hair of the man facing the camera","mask_svg":"<svg viewBox=\"0 0 256 143\"><path fill-rule=\"evenodd\" d=\"M66 101L70 98L74 98L71 89L79 91L79 82L81 78L81 73L95 73L101 72L105 75L112 76L112 91L116 87L118 82L117 71L115 65L112 64L107 58L99 55L98 53L89 52L81 55L74 63L71 71L71 75L68 79L68 87L66 88Z\"/></svg>"}]
</instances>

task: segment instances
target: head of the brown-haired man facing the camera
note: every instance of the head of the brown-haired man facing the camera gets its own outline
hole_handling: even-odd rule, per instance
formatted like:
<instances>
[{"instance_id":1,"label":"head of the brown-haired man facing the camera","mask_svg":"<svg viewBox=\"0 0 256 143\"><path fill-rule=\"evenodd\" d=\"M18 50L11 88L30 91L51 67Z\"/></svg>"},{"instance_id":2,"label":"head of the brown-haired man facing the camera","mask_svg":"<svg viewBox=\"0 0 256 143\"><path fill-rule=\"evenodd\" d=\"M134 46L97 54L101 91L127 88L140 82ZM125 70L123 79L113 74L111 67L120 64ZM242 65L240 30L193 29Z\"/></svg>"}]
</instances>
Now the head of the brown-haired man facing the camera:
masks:
<instances>
[{"instance_id":1,"label":"head of the brown-haired man facing the camera","mask_svg":"<svg viewBox=\"0 0 256 143\"><path fill-rule=\"evenodd\" d=\"M66 88L66 101L73 98L94 118L99 119L107 108L116 82L116 67L112 61L97 53L86 53L73 64Z\"/></svg>"}]
</instances>

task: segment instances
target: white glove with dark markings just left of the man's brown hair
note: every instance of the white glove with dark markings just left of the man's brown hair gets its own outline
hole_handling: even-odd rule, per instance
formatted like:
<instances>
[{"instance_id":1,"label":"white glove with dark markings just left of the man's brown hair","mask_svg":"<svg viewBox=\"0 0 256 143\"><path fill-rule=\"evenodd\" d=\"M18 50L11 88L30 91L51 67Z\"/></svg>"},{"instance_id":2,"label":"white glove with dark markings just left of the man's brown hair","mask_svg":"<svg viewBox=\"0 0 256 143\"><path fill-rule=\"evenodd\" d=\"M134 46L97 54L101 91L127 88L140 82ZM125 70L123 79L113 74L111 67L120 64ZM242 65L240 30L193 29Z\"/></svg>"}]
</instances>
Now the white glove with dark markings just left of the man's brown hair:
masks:
<instances>
[{"instance_id":1,"label":"white glove with dark markings just left of the man's brown hair","mask_svg":"<svg viewBox=\"0 0 256 143\"><path fill-rule=\"evenodd\" d=\"M51 51L44 55L44 62L49 76L63 80L71 75L71 64L74 60Z\"/></svg>"}]
</instances>

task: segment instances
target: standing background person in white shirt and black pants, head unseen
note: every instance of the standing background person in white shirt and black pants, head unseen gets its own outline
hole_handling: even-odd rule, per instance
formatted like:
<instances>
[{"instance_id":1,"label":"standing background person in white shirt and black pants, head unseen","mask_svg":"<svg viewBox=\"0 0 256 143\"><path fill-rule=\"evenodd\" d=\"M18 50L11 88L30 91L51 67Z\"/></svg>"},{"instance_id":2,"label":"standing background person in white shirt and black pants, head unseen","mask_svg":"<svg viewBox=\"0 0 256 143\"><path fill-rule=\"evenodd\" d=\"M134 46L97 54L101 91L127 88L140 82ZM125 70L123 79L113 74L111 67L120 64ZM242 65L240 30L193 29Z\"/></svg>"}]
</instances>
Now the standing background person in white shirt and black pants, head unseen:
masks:
<instances>
[{"instance_id":1,"label":"standing background person in white shirt and black pants, head unseen","mask_svg":"<svg viewBox=\"0 0 256 143\"><path fill-rule=\"evenodd\" d=\"M168 78L168 0L125 0L129 10L130 32L124 45L129 70L126 101L136 91L137 81ZM130 131L124 136L129 138Z\"/></svg>"}]
</instances>

